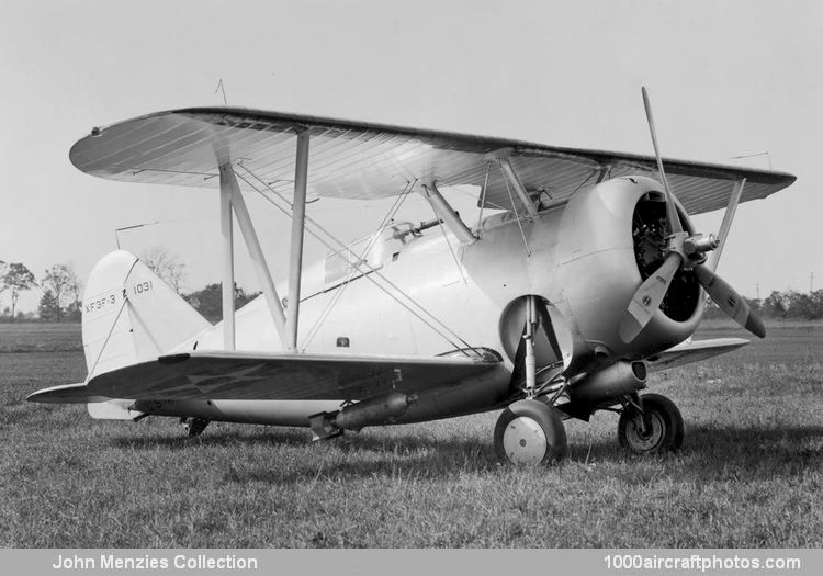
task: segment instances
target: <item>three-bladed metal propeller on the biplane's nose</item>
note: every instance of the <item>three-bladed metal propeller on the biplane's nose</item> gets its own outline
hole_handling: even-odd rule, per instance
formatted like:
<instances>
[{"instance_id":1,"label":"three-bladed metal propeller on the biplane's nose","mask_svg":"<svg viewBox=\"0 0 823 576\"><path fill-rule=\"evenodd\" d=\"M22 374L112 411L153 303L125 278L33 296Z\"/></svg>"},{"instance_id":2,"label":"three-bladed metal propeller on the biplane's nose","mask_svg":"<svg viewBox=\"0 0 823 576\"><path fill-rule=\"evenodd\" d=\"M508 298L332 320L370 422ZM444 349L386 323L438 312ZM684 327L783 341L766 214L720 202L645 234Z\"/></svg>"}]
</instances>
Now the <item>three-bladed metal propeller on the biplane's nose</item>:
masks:
<instances>
[{"instance_id":1,"label":"three-bladed metal propeller on the biplane's nose","mask_svg":"<svg viewBox=\"0 0 823 576\"><path fill-rule=\"evenodd\" d=\"M657 170L665 191L669 236L666 237L665 260L657 270L643 281L629 302L625 314L620 321L620 338L624 342L631 342L640 335L651 321L663 298L666 297L672 281L679 270L694 271L697 281L720 309L739 325L763 338L766 336L766 328L763 321L752 312L746 301L728 282L703 266L706 252L718 247L718 239L714 235L708 237L702 235L691 236L683 229L680 217L677 214L675 195L668 187L666 173L663 170L663 159L657 146L657 134L652 116L652 104L645 87L642 88L642 93L643 106L649 121L649 132L652 135L652 145L654 146L654 156L657 160Z\"/></svg>"}]
</instances>

